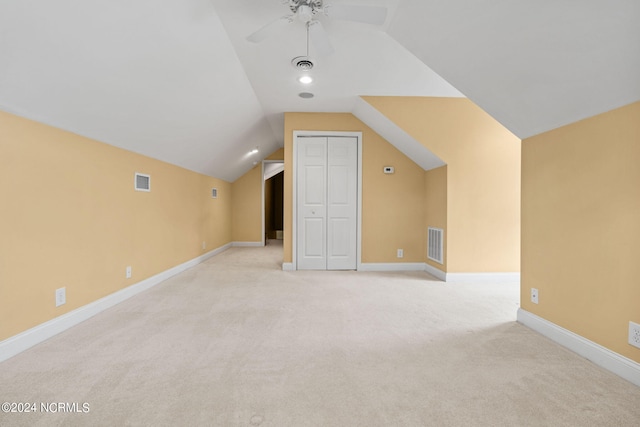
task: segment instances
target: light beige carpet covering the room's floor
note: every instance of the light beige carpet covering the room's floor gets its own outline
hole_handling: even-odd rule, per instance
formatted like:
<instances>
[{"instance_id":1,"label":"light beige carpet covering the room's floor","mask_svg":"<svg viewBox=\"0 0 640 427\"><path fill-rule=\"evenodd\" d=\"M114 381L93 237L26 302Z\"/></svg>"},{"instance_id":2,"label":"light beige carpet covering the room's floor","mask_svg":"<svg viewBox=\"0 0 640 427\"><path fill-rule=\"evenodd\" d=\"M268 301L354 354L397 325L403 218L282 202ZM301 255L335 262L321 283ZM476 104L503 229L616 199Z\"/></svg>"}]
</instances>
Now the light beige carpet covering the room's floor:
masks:
<instances>
[{"instance_id":1,"label":"light beige carpet covering the room's floor","mask_svg":"<svg viewBox=\"0 0 640 427\"><path fill-rule=\"evenodd\" d=\"M515 322L516 285L281 261L232 248L0 363L0 401L89 408L0 425L640 425L640 388Z\"/></svg>"}]
</instances>

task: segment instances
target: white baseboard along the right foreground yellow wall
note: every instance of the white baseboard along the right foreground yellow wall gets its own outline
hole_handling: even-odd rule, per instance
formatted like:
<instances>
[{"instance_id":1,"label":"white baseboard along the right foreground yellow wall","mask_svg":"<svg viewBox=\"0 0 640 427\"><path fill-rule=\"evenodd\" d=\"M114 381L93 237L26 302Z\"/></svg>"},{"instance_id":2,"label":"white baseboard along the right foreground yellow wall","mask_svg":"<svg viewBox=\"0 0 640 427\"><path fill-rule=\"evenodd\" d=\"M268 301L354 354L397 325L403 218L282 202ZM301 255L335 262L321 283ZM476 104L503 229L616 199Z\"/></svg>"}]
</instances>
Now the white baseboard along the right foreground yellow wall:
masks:
<instances>
[{"instance_id":1,"label":"white baseboard along the right foreground yellow wall","mask_svg":"<svg viewBox=\"0 0 640 427\"><path fill-rule=\"evenodd\" d=\"M640 363L521 308L518 322L640 387Z\"/></svg>"}]
</instances>

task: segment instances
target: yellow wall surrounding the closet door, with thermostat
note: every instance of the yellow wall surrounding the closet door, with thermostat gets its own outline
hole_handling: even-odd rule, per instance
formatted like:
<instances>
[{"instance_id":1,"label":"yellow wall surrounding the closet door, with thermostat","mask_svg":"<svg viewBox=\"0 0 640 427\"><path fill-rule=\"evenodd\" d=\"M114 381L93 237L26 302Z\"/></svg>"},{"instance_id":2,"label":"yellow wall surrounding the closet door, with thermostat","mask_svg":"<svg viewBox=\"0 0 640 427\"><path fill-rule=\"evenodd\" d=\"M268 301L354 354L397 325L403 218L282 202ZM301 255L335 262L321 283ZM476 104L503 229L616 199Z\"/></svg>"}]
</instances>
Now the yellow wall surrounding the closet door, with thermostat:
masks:
<instances>
[{"instance_id":1,"label":"yellow wall surrounding the closet door, with thermostat","mask_svg":"<svg viewBox=\"0 0 640 427\"><path fill-rule=\"evenodd\" d=\"M349 113L285 114L284 262L292 261L293 131L362 132L362 262L424 262L424 171ZM395 174L383 173L394 166ZM397 249L404 258L396 257Z\"/></svg>"}]
</instances>

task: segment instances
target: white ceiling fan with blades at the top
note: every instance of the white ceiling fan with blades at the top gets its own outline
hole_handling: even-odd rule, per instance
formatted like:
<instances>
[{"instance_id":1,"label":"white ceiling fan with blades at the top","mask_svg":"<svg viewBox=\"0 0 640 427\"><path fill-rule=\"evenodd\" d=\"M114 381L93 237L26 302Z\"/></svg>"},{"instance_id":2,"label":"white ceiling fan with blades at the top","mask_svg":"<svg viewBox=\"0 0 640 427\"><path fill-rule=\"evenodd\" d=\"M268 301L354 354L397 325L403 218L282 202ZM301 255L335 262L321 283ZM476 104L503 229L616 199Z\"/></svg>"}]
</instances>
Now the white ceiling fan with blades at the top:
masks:
<instances>
[{"instance_id":1,"label":"white ceiling fan with blades at the top","mask_svg":"<svg viewBox=\"0 0 640 427\"><path fill-rule=\"evenodd\" d=\"M256 32L250 34L247 40L259 43L277 33L282 27L298 20L307 27L307 34L311 42L321 55L333 53L333 46L329 36L317 17L327 16L331 19L363 22L365 24L382 25L387 18L387 8L382 6L355 4L324 4L323 0L282 0L288 4L291 13L272 21Z\"/></svg>"}]
</instances>

